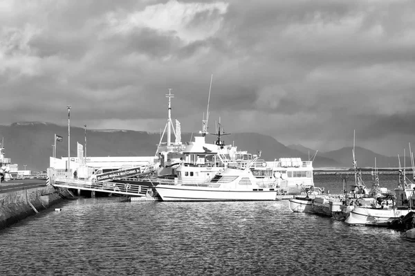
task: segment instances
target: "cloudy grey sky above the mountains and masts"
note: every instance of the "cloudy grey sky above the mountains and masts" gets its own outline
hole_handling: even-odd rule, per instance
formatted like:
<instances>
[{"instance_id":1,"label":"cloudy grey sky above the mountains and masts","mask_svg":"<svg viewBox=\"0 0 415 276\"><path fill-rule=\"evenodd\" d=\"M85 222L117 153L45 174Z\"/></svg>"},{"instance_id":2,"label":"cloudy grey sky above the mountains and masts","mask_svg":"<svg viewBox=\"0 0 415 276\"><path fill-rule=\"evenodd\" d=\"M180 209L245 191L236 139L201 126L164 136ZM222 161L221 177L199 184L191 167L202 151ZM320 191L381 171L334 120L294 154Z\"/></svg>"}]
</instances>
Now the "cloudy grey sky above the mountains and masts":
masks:
<instances>
[{"instance_id":1,"label":"cloudy grey sky above the mountains and masts","mask_svg":"<svg viewBox=\"0 0 415 276\"><path fill-rule=\"evenodd\" d=\"M415 1L0 0L0 124L415 147Z\"/></svg>"}]
</instances>

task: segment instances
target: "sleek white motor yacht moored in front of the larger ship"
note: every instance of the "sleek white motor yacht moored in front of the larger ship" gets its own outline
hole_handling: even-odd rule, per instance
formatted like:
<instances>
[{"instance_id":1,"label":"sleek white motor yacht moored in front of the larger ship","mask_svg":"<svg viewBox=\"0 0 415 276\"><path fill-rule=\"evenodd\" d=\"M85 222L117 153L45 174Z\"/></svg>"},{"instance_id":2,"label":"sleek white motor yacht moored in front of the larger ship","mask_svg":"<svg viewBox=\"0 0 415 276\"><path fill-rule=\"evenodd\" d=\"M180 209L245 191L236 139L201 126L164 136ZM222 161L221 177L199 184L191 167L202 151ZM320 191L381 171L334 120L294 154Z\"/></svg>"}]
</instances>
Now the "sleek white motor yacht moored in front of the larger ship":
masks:
<instances>
[{"instance_id":1,"label":"sleek white motor yacht moored in front of the larger ship","mask_svg":"<svg viewBox=\"0 0 415 276\"><path fill-rule=\"evenodd\" d=\"M272 177L256 178L250 167L228 165L205 183L159 184L156 191L163 201L274 201L277 185Z\"/></svg>"}]
</instances>

